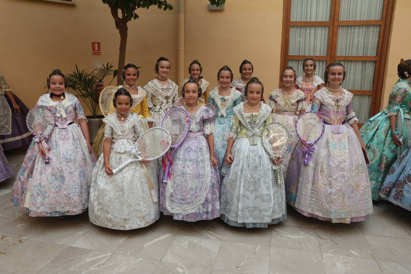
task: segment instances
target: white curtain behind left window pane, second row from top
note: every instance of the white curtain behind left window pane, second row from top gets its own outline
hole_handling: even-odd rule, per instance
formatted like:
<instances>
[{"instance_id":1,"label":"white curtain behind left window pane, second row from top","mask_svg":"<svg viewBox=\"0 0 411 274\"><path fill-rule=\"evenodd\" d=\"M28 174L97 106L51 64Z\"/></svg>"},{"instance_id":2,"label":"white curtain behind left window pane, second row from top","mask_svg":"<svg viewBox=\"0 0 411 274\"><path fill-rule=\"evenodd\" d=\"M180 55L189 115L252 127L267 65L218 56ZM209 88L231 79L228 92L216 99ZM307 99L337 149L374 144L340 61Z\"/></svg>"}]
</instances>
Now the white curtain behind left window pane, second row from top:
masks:
<instances>
[{"instance_id":1,"label":"white curtain behind left window pane, second row from top","mask_svg":"<svg viewBox=\"0 0 411 274\"><path fill-rule=\"evenodd\" d=\"M289 55L326 56L328 26L290 26Z\"/></svg>"}]
</instances>

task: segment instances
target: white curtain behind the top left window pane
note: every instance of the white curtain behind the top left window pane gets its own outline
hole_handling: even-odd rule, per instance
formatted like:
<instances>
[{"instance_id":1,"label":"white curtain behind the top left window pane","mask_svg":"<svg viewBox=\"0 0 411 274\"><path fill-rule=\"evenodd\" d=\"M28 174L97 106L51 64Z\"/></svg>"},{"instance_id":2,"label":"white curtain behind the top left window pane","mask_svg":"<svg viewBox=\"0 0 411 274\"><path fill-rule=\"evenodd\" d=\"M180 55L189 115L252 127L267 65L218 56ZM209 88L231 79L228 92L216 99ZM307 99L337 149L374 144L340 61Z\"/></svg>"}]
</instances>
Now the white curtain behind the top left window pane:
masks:
<instances>
[{"instance_id":1,"label":"white curtain behind the top left window pane","mask_svg":"<svg viewBox=\"0 0 411 274\"><path fill-rule=\"evenodd\" d=\"M279 0L271 0L279 1ZM331 0L292 0L290 21L330 21Z\"/></svg>"}]
</instances>

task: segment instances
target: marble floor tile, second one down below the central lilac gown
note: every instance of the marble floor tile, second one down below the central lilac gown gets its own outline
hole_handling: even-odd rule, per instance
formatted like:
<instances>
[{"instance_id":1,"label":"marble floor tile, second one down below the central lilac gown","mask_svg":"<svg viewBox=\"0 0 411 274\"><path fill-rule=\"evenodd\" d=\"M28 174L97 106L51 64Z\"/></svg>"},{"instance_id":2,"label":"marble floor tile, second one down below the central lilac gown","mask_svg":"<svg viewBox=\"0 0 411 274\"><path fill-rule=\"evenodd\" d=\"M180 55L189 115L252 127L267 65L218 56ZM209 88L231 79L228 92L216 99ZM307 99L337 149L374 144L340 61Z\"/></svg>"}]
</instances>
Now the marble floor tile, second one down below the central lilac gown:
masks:
<instances>
[{"instance_id":1,"label":"marble floor tile, second one down below the central lilac gown","mask_svg":"<svg viewBox=\"0 0 411 274\"><path fill-rule=\"evenodd\" d=\"M212 268L221 241L177 235L162 261Z\"/></svg>"}]
</instances>

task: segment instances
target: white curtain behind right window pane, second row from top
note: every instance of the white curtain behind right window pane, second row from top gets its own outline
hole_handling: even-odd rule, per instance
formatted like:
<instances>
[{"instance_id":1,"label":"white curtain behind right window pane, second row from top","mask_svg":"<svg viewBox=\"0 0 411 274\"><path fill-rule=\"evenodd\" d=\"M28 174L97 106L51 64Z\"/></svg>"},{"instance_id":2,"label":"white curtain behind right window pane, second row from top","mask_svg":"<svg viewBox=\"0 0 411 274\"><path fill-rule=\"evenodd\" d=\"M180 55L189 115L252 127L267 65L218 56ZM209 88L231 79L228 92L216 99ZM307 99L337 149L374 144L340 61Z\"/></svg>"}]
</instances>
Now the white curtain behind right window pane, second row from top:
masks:
<instances>
[{"instance_id":1,"label":"white curtain behind right window pane, second row from top","mask_svg":"<svg viewBox=\"0 0 411 274\"><path fill-rule=\"evenodd\" d=\"M380 25L338 27L337 56L376 56Z\"/></svg>"}]
</instances>

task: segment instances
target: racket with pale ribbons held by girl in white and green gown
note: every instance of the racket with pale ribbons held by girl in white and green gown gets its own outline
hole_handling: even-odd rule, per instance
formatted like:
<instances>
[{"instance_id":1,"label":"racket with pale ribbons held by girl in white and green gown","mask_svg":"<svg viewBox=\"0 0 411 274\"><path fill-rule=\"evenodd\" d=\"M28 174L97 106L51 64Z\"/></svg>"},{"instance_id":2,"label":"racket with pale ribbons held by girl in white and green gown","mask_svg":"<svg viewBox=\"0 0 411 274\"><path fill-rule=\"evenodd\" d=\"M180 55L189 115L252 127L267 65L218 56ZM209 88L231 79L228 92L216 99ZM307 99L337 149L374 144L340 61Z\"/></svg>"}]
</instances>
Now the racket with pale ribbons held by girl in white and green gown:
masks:
<instances>
[{"instance_id":1,"label":"racket with pale ribbons held by girl in white and green gown","mask_svg":"<svg viewBox=\"0 0 411 274\"><path fill-rule=\"evenodd\" d=\"M272 122L267 124L261 132L261 141L263 148L268 156L273 159L281 158L289 147L289 134L283 124L279 122ZM277 184L283 184L283 165L279 161L277 165L272 167L275 171L274 177L277 175Z\"/></svg>"}]
</instances>

